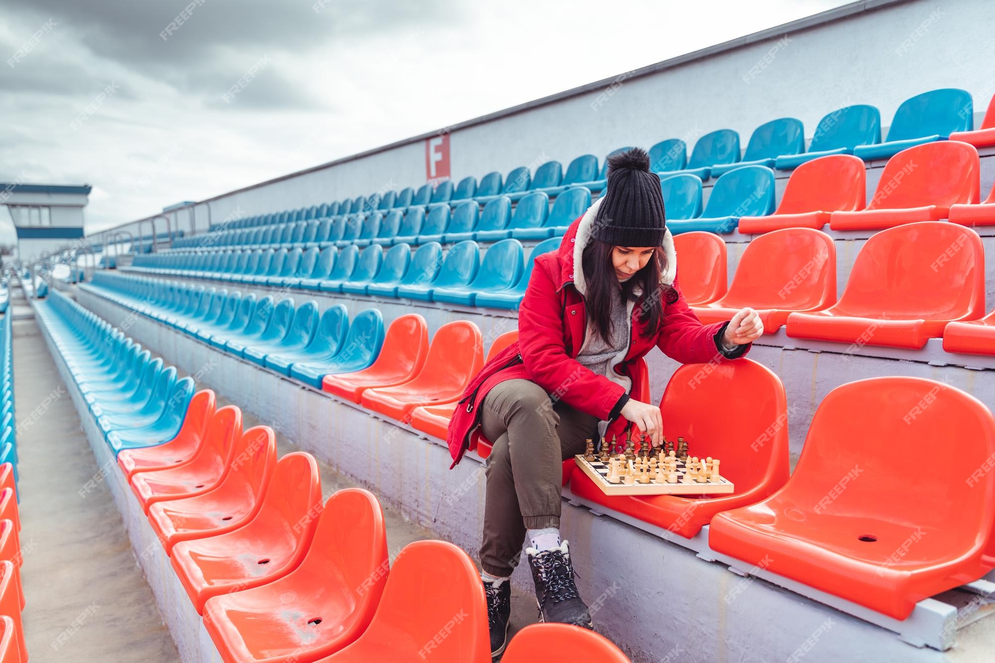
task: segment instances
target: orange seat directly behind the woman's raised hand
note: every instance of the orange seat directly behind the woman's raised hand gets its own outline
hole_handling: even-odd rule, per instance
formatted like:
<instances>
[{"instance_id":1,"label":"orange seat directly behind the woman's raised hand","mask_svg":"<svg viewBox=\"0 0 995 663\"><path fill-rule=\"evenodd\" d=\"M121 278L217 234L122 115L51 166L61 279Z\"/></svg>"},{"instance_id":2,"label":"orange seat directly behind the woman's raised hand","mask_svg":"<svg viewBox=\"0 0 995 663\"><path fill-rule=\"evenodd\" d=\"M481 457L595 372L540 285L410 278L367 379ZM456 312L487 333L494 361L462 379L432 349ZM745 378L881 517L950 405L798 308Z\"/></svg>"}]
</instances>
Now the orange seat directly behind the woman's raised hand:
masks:
<instances>
[{"instance_id":1,"label":"orange seat directly behind the woman's raised hand","mask_svg":"<svg viewBox=\"0 0 995 663\"><path fill-rule=\"evenodd\" d=\"M816 161L798 170L811 163ZM812 228L782 228L747 244L728 292L692 310L708 325L732 320L737 311L751 307L763 321L764 333L774 333L792 312L820 311L835 303L833 238Z\"/></svg>"}]
</instances>

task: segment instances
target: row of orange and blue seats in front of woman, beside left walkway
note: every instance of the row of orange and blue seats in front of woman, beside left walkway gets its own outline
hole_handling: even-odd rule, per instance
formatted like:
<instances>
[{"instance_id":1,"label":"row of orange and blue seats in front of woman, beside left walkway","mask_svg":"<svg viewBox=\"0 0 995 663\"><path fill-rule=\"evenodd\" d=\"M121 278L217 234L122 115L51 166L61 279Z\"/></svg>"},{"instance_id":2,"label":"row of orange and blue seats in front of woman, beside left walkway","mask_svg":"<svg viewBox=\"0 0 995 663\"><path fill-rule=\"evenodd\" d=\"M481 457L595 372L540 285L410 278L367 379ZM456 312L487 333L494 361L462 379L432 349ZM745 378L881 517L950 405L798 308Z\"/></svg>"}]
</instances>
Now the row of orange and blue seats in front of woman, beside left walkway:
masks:
<instances>
[{"instance_id":1,"label":"row of orange and blue seats in front of woman, beside left walkway","mask_svg":"<svg viewBox=\"0 0 995 663\"><path fill-rule=\"evenodd\" d=\"M119 403L129 391L119 386L129 365L121 350L135 344L58 292L36 311L95 415ZM273 430L243 431L241 410L217 407L210 390L182 400L172 433L133 408L96 419L111 423L101 428L118 468L224 661L417 660L448 624L433 660L491 660L483 586L465 552L422 541L391 564L371 493L345 489L322 505L310 454L278 460ZM112 443L124 438L146 443ZM463 615L456 624L454 614ZM518 651L511 660L561 641L628 660L601 636L562 626L531 629L509 648Z\"/></svg>"}]
</instances>

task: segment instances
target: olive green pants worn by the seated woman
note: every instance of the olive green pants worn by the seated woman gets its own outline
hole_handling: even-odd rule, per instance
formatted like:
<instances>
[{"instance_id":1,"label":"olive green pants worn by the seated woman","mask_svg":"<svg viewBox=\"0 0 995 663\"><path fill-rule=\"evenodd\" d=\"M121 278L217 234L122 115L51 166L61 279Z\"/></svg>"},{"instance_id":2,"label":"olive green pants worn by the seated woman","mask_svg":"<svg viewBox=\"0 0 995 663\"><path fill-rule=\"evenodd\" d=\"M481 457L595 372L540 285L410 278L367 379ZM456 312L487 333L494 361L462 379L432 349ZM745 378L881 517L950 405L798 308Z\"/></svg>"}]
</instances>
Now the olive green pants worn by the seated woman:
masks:
<instances>
[{"instance_id":1,"label":"olive green pants worn by the seated woman","mask_svg":"<svg viewBox=\"0 0 995 663\"><path fill-rule=\"evenodd\" d=\"M584 453L598 418L562 400L553 403L526 379L498 383L482 407L484 436L494 449L487 460L481 565L502 577L517 564L525 530L559 527L562 463Z\"/></svg>"}]
</instances>

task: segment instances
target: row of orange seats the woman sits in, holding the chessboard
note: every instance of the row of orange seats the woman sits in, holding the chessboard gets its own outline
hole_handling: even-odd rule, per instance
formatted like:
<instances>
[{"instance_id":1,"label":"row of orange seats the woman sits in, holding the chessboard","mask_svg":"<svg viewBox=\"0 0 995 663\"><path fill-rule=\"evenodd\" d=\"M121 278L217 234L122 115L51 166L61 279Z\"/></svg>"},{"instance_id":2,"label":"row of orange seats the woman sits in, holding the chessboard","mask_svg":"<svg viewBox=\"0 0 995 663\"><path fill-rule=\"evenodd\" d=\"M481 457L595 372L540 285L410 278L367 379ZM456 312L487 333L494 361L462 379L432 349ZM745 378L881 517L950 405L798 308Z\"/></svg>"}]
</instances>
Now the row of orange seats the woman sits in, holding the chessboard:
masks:
<instances>
[{"instance_id":1,"label":"row of orange seats the woman sits in, holding the chessboard","mask_svg":"<svg viewBox=\"0 0 995 663\"><path fill-rule=\"evenodd\" d=\"M417 319L405 316L396 324L419 335ZM461 336L450 334L461 325ZM513 339L514 332L500 336L491 354ZM445 439L463 385L483 360L483 341L475 326L458 322L424 346L422 367L412 369L421 349L388 350L385 341L376 363L325 376L324 390ZM917 377L844 384L819 405L789 480L787 427L771 426L787 420L780 379L749 359L702 372L700 364L686 364L671 376L660 401L664 433L676 439L694 430L695 439L708 440L734 494L609 497L567 461L564 484L571 494L688 539L710 525L714 551L749 563L768 559L763 563L773 572L897 619L917 601L995 566L995 473L988 472L995 417L973 396ZM716 399L728 393L751 398L726 399L726 416L710 416ZM477 435L478 453L486 457L491 443ZM883 443L896 439L911 447L897 454ZM954 466L923 473L914 459L928 457L937 443L956 457ZM859 480L849 476L853 468ZM930 506L938 494L952 496L956 514ZM914 532L936 536L905 551L901 546Z\"/></svg>"}]
</instances>

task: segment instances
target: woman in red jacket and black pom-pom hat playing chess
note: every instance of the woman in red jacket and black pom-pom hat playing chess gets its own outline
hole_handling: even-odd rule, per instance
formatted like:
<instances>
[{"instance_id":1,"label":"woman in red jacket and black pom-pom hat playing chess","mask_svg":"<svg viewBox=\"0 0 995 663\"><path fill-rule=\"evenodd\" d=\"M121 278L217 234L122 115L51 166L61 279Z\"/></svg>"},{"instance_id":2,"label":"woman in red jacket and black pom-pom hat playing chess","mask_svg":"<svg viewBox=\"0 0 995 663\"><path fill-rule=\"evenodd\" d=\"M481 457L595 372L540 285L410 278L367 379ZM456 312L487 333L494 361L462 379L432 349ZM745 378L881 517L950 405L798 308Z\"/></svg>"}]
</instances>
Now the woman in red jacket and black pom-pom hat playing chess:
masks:
<instances>
[{"instance_id":1,"label":"woman in red jacket and black pom-pom hat playing chess","mask_svg":"<svg viewBox=\"0 0 995 663\"><path fill-rule=\"evenodd\" d=\"M559 539L561 463L583 453L587 439L623 439L628 422L660 444L660 408L645 402L649 394L633 393L643 369L637 359L654 345L684 363L734 359L763 332L751 309L701 325L677 285L677 268L646 151L610 157L604 195L571 224L557 251L535 259L517 342L484 366L453 415L454 465L478 428L494 443L481 575L495 656L507 633L507 579L526 539L542 620L593 627Z\"/></svg>"}]
</instances>

